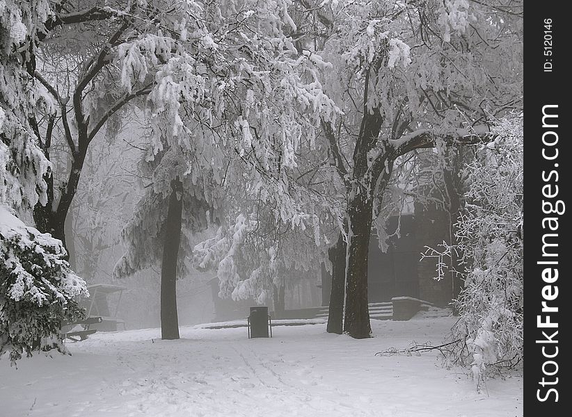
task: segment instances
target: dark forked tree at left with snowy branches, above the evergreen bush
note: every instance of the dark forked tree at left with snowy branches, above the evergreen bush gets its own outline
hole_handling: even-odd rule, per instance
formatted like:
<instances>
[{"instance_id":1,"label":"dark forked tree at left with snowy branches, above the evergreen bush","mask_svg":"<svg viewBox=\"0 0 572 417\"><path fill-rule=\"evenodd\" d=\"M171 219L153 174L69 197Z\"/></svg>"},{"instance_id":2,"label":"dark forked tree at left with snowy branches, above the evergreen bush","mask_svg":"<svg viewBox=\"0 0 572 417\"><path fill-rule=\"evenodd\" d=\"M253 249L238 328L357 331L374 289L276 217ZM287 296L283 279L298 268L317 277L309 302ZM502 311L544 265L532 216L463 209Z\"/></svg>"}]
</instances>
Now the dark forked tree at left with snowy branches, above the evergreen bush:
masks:
<instances>
[{"instance_id":1,"label":"dark forked tree at left with snowy branches, above the evergreen bush","mask_svg":"<svg viewBox=\"0 0 572 417\"><path fill-rule=\"evenodd\" d=\"M167 4L161 1L44 3L45 16L31 26L20 50L31 57L27 72L35 85L48 92L53 111L35 112L29 120L47 158L67 163L46 177L47 204L35 206L34 220L40 230L65 245L65 218L90 143L103 126L113 131L120 125L122 111L148 95L153 84L152 76L145 80L143 72L139 72L141 79L129 78L129 71L138 69L125 58L127 49L147 40L149 60L157 63L164 58L173 38L161 36L161 24L167 24L166 15L172 10L162 8ZM154 65L147 68L155 69ZM65 147L63 155L56 153L56 143Z\"/></svg>"}]
</instances>

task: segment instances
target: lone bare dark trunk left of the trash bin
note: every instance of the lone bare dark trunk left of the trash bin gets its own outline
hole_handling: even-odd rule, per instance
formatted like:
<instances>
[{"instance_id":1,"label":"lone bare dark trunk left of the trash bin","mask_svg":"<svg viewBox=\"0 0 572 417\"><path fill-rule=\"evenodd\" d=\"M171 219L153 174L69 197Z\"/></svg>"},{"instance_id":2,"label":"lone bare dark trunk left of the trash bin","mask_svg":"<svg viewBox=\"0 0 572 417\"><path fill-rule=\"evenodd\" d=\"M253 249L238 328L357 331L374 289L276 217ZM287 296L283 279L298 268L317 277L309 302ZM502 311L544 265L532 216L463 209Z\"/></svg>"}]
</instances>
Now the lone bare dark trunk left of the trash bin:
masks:
<instances>
[{"instance_id":1,"label":"lone bare dark trunk left of the trash bin","mask_svg":"<svg viewBox=\"0 0 572 417\"><path fill-rule=\"evenodd\" d=\"M171 183L173 192L169 197L166 220L163 263L161 265L161 338L179 338L179 317L177 316L177 258L182 225L182 184Z\"/></svg>"}]
</instances>

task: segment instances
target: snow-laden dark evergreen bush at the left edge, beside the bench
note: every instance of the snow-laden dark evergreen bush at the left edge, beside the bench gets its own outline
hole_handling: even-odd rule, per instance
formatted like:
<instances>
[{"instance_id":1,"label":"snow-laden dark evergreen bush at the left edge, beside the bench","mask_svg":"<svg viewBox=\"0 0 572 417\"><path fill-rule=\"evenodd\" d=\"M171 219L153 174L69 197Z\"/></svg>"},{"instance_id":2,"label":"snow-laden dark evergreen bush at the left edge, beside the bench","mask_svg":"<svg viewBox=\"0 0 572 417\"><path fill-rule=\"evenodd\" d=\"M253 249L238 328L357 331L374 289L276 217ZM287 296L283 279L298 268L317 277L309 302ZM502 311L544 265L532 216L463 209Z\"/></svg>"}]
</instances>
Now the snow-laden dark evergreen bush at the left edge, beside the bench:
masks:
<instances>
[{"instance_id":1,"label":"snow-laden dark evergreen bush at the left edge, beside the bench","mask_svg":"<svg viewBox=\"0 0 572 417\"><path fill-rule=\"evenodd\" d=\"M0 205L0 357L15 363L42 349L41 339L64 352L57 337L62 320L84 318L74 297L86 282L65 261L61 241L42 234Z\"/></svg>"}]
</instances>

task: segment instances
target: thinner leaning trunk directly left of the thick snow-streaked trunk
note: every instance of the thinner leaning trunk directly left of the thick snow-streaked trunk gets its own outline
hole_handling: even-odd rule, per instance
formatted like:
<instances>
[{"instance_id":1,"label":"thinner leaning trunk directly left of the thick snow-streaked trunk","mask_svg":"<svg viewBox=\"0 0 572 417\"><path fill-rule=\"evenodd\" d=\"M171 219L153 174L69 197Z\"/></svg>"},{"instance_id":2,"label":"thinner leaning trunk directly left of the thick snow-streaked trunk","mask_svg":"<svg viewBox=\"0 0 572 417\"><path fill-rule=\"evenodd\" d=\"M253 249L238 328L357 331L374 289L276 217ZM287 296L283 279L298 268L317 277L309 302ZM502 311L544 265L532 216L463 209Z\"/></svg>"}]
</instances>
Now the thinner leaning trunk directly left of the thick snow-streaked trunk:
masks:
<instances>
[{"instance_id":1,"label":"thinner leaning trunk directly left of the thick snow-streaked trunk","mask_svg":"<svg viewBox=\"0 0 572 417\"><path fill-rule=\"evenodd\" d=\"M330 292L330 308L326 332L342 334L344 319L344 298L346 285L346 252L347 245L340 233L337 242L328 250L332 263L332 283Z\"/></svg>"}]
</instances>

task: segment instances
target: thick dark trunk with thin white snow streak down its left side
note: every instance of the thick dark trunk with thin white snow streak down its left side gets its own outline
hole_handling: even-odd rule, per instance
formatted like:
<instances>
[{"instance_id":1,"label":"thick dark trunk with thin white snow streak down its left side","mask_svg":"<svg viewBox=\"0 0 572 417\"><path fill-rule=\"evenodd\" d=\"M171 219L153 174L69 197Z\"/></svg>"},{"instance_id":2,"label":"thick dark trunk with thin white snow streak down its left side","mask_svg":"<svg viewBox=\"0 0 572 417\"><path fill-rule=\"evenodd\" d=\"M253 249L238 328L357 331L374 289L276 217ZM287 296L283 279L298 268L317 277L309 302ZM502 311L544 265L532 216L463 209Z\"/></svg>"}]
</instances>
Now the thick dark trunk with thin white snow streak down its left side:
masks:
<instances>
[{"instance_id":1,"label":"thick dark trunk with thin white snow streak down its left side","mask_svg":"<svg viewBox=\"0 0 572 417\"><path fill-rule=\"evenodd\" d=\"M344 332L353 338L371 336L370 311L367 306L367 257L370 252L373 199L359 193L350 200L346 276Z\"/></svg>"}]
</instances>

